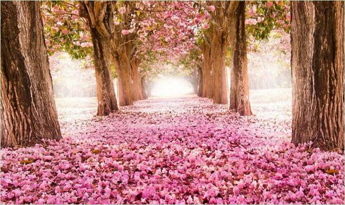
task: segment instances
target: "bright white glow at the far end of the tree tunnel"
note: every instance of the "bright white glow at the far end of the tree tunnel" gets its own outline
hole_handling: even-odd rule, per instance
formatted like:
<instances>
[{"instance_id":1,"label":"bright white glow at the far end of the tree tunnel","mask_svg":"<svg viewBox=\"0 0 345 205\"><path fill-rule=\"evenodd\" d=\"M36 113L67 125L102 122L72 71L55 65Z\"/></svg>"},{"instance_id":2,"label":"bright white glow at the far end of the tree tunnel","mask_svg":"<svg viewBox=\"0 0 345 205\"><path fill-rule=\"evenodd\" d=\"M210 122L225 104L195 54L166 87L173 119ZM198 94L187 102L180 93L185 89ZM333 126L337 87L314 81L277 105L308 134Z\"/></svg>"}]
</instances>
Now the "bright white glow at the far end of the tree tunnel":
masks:
<instances>
[{"instance_id":1,"label":"bright white glow at the far end of the tree tunnel","mask_svg":"<svg viewBox=\"0 0 345 205\"><path fill-rule=\"evenodd\" d=\"M155 82L152 88L152 96L154 97L181 97L191 94L193 87L191 83L181 78L164 77Z\"/></svg>"}]
</instances>

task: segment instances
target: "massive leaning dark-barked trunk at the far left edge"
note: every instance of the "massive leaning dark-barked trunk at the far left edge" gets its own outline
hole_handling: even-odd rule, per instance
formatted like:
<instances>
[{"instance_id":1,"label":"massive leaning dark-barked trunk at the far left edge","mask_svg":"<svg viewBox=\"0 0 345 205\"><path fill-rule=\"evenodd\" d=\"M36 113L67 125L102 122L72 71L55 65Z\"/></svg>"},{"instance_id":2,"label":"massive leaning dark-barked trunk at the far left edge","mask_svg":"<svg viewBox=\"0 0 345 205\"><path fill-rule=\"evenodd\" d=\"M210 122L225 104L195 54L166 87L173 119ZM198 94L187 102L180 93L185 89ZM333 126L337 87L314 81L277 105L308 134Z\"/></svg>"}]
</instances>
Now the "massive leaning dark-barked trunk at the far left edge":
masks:
<instances>
[{"instance_id":1,"label":"massive leaning dark-barked trunk at the far left edge","mask_svg":"<svg viewBox=\"0 0 345 205\"><path fill-rule=\"evenodd\" d=\"M1 147L61 139L39 2L1 2Z\"/></svg>"}]
</instances>

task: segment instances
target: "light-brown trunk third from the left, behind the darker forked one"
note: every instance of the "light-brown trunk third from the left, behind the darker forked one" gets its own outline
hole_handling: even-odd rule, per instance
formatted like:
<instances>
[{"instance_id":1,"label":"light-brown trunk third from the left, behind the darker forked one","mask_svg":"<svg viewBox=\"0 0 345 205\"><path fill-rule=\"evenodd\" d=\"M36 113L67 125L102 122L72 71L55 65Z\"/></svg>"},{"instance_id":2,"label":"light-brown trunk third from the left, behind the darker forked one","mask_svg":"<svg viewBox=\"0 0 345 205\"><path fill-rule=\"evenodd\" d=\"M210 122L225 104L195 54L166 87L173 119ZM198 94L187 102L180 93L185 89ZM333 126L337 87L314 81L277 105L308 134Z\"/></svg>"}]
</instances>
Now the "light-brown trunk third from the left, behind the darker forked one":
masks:
<instances>
[{"instance_id":1,"label":"light-brown trunk third from the left, behind the darker forked one","mask_svg":"<svg viewBox=\"0 0 345 205\"><path fill-rule=\"evenodd\" d=\"M119 62L118 85L120 106L133 105L129 58L127 54L119 53L117 60Z\"/></svg>"}]
</instances>

